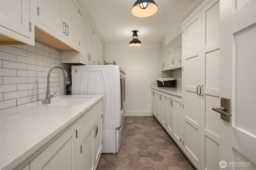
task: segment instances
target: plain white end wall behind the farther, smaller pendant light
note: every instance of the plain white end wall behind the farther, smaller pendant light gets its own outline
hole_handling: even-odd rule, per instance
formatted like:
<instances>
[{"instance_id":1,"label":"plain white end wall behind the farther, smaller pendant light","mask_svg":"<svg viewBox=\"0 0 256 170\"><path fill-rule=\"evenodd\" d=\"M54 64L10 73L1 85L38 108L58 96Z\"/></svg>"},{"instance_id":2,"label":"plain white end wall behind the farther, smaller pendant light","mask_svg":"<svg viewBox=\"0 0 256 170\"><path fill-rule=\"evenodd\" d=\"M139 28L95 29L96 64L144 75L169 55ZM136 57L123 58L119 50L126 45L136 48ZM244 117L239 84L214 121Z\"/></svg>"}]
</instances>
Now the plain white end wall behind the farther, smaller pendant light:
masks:
<instances>
[{"instance_id":1,"label":"plain white end wall behind the farther, smaller pendant light","mask_svg":"<svg viewBox=\"0 0 256 170\"><path fill-rule=\"evenodd\" d=\"M114 60L126 72L125 115L152 115L150 82L161 77L160 43L106 43L105 60Z\"/></svg>"}]
</instances>

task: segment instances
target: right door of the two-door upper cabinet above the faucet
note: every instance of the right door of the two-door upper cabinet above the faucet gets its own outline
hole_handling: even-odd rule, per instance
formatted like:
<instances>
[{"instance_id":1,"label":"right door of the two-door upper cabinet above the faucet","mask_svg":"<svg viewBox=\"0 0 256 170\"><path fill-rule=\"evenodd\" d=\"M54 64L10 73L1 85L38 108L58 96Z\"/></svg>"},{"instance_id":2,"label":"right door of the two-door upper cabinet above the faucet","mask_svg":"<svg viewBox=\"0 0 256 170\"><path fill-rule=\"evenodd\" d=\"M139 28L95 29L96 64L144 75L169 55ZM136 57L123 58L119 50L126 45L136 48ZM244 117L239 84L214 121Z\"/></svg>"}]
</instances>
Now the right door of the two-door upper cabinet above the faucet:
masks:
<instances>
[{"instance_id":1,"label":"right door of the two-door upper cabinet above the faucet","mask_svg":"<svg viewBox=\"0 0 256 170\"><path fill-rule=\"evenodd\" d=\"M66 27L63 27L65 38L78 47L79 5L76 0L62 0L61 11L62 23L66 23Z\"/></svg>"}]
</instances>

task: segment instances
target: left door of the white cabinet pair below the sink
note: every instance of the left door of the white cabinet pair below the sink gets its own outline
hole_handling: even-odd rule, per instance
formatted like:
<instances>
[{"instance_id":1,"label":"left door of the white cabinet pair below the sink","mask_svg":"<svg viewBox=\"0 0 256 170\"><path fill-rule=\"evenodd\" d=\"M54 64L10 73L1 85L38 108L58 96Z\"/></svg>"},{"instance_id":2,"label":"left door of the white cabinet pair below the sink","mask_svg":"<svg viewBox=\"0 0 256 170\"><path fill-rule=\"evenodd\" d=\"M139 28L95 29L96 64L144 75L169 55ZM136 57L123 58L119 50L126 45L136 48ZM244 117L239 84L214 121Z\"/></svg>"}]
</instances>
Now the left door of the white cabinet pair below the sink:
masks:
<instances>
[{"instance_id":1,"label":"left door of the white cabinet pair below the sink","mask_svg":"<svg viewBox=\"0 0 256 170\"><path fill-rule=\"evenodd\" d=\"M84 136L81 138L80 148L80 167L83 170L94 169L94 125L90 126Z\"/></svg>"}]
</instances>

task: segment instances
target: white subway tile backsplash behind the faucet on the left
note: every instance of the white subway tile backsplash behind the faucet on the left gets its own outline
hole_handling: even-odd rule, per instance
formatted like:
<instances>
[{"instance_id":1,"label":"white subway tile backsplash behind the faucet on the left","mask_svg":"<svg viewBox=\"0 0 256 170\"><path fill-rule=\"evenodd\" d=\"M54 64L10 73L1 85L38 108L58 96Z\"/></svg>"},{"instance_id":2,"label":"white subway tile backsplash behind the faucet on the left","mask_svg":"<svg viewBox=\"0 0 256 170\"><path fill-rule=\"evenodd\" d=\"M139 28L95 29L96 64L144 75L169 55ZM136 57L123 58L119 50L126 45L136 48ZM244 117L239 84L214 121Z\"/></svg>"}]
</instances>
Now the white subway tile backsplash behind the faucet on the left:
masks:
<instances>
[{"instance_id":1,"label":"white subway tile backsplash behind the faucet on the left","mask_svg":"<svg viewBox=\"0 0 256 170\"><path fill-rule=\"evenodd\" d=\"M36 42L0 46L0 109L45 98L47 73L60 66L60 52ZM52 72L51 94L61 94L60 70Z\"/></svg>"}]
</instances>

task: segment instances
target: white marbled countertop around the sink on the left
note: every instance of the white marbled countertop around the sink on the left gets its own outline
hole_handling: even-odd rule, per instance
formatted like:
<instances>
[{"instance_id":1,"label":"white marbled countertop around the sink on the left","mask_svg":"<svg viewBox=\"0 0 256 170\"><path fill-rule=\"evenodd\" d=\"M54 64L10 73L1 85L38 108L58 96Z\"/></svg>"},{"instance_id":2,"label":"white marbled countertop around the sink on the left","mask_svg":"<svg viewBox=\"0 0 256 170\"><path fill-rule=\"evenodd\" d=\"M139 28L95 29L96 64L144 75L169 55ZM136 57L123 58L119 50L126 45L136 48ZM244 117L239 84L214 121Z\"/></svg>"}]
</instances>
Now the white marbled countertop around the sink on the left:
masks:
<instances>
[{"instance_id":1,"label":"white marbled countertop around the sink on the left","mask_svg":"<svg viewBox=\"0 0 256 170\"><path fill-rule=\"evenodd\" d=\"M0 170L10 170L18 166L103 98L102 95L68 95L68 97L76 96L93 98L76 106L31 106L41 101L33 102L24 104L23 111L2 117Z\"/></svg>"}]
</instances>

